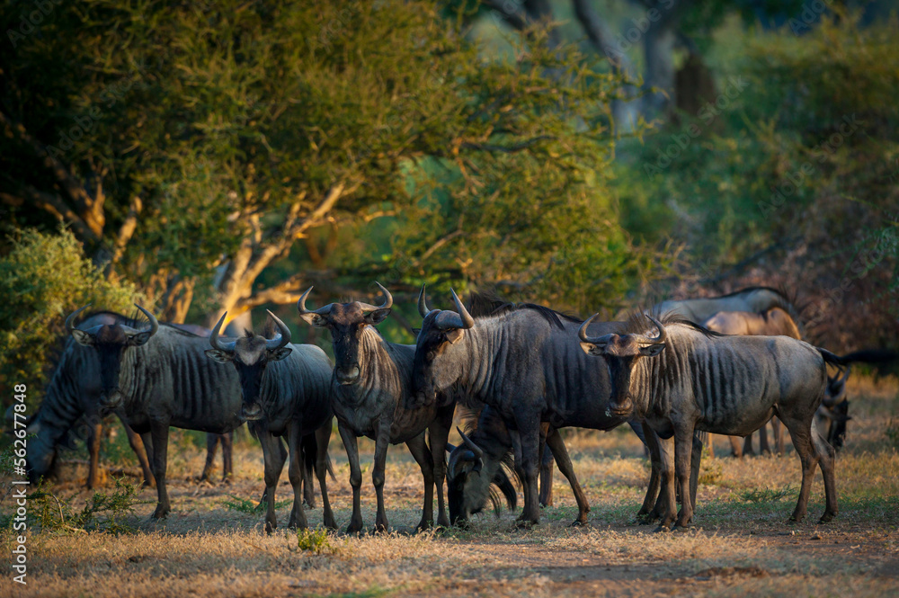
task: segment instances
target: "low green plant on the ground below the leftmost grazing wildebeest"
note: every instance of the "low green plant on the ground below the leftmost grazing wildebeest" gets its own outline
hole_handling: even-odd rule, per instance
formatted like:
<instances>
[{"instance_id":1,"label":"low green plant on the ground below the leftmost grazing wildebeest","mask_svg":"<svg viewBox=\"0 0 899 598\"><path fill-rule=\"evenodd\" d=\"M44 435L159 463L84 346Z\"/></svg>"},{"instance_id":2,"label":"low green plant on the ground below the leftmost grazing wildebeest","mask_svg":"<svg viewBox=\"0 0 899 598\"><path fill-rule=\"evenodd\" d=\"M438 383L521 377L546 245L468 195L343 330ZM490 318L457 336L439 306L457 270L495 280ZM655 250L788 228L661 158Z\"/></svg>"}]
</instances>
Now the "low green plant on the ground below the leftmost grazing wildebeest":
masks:
<instances>
[{"instance_id":1,"label":"low green plant on the ground below the leftmost grazing wildebeest","mask_svg":"<svg viewBox=\"0 0 899 598\"><path fill-rule=\"evenodd\" d=\"M139 493L139 484L116 478L110 493L93 493L84 508L77 511L71 499L60 500L41 484L28 496L28 516L31 524L37 523L43 530L131 533L134 528L128 519L134 514L134 505L140 502Z\"/></svg>"}]
</instances>

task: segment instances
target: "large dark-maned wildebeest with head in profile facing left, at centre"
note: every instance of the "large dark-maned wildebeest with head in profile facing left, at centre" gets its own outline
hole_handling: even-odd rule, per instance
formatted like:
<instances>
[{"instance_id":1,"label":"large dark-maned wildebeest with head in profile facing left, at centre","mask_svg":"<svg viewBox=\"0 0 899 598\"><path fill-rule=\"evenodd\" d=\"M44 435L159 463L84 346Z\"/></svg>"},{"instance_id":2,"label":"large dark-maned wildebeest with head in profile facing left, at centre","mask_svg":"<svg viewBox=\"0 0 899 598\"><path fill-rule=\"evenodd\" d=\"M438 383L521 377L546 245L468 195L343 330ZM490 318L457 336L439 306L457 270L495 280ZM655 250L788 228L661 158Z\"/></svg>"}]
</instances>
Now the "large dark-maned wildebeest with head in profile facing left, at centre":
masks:
<instances>
[{"instance_id":1,"label":"large dark-maned wildebeest with head in profile facing left, at centre","mask_svg":"<svg viewBox=\"0 0 899 598\"><path fill-rule=\"evenodd\" d=\"M433 405L440 397L462 388L468 397L492 407L495 414L492 416L499 418L509 431L506 442L491 441L489 449L486 446L481 449L492 461L484 479L469 484L468 470L464 470L464 486L470 486L472 494L461 513L464 515L466 510L470 512L478 504L484 504L485 488L498 467L496 455L504 454L511 445L515 468L524 486L524 509L519 520L539 522L537 467L541 436L546 435L547 442L553 442L550 448L555 455L556 449L564 451L564 443L556 444L551 429L574 425L609 430L628 418L607 414L608 374L580 350L575 338L580 320L529 304L476 320L455 291L452 299L458 311L428 309L424 289L419 296L419 311L424 321L415 350L414 396L420 405ZM617 322L603 323L595 325L595 331L609 332L621 326ZM499 438L495 431L485 437L490 436ZM471 443L467 444L471 453L467 460L484 460L476 459L477 451ZM653 462L659 463L656 458ZM559 466L562 469L563 463ZM570 467L564 467L566 478L575 479ZM652 478L651 486L658 492L664 471L654 473L658 476ZM577 522L585 522L589 507L583 493L578 496L576 479L572 486L575 497L579 498ZM664 501L663 505L670 504L673 510L674 486L668 484L663 488L666 494L671 494L670 502ZM654 501L648 494L645 512L649 511L647 504Z\"/></svg>"}]
</instances>

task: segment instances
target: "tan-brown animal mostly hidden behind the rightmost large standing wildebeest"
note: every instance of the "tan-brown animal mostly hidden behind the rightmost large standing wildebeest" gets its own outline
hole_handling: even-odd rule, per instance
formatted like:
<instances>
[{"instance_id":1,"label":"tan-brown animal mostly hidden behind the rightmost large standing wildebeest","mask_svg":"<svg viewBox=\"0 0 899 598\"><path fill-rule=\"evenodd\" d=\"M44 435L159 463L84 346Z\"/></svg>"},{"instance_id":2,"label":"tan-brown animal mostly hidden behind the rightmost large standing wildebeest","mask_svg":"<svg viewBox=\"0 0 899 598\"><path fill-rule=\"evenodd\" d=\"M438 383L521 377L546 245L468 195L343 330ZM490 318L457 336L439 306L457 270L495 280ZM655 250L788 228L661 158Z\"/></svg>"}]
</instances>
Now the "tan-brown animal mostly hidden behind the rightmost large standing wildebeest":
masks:
<instances>
[{"instance_id":1,"label":"tan-brown animal mostly hidden behind the rightmost large standing wildebeest","mask_svg":"<svg viewBox=\"0 0 899 598\"><path fill-rule=\"evenodd\" d=\"M705 322L698 322L708 330L719 332L722 335L753 335L753 336L789 336L798 340L802 339L799 327L793 318L782 308L770 308L756 314L750 311L719 311ZM759 428L759 451L772 452L768 445L767 424ZM774 446L777 454L784 454L784 435L777 417L771 418L771 429L774 433ZM743 447L740 442L730 436L731 448L735 457L752 454L752 434L746 436Z\"/></svg>"}]
</instances>

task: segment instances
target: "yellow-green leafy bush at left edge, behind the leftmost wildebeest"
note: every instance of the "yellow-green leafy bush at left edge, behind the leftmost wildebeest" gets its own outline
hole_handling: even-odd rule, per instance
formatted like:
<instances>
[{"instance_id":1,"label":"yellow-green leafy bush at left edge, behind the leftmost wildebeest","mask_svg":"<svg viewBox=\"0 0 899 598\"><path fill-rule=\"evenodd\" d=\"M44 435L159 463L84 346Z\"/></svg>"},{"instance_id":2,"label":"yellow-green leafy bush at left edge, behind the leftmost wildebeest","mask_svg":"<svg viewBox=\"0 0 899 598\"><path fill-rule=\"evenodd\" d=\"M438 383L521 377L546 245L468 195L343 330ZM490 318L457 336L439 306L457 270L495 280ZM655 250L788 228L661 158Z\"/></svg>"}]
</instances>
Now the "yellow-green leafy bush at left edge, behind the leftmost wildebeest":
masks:
<instances>
[{"instance_id":1,"label":"yellow-green leafy bush at left edge, behind the leftmost wildebeest","mask_svg":"<svg viewBox=\"0 0 899 598\"><path fill-rule=\"evenodd\" d=\"M139 296L129 282L103 278L68 230L29 228L10 242L0 258L0 385L27 384L31 394L68 314L88 303L129 313Z\"/></svg>"}]
</instances>

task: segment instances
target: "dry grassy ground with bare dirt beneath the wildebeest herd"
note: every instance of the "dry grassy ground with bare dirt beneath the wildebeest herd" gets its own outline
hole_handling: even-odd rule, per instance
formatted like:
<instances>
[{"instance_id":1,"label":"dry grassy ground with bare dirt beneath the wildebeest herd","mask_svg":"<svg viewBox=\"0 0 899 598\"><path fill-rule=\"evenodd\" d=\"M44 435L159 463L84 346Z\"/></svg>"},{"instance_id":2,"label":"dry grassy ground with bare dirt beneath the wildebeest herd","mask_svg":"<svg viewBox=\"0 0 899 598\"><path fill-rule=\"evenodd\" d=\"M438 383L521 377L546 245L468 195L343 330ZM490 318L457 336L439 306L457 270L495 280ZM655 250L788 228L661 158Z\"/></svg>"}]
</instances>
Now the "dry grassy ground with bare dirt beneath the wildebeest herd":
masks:
<instances>
[{"instance_id":1,"label":"dry grassy ground with bare dirt beneath the wildebeest herd","mask_svg":"<svg viewBox=\"0 0 899 598\"><path fill-rule=\"evenodd\" d=\"M891 596L899 594L899 405L895 379L856 379L846 448L837 462L840 514L819 525L823 483L817 476L809 518L788 524L799 462L785 457L705 459L694 528L654 533L634 515L648 464L629 430L572 431L566 437L575 471L592 504L590 525L571 528L576 507L556 472L556 504L530 530L517 513L476 517L467 530L414 534L421 513L420 474L405 447L388 455L387 515L391 533L332 533L321 552L300 549L295 531L263 531L263 513L227 506L258 500L261 451L240 443L235 479L200 484L203 453L174 439L170 494L174 512L149 519L155 490L145 489L130 522L133 533L36 531L28 538L28 585L12 583L4 567L0 596ZM717 438L723 455L725 439ZM370 486L372 444L361 445L363 516L374 522ZM350 518L351 488L343 447L331 447L336 481L329 484L335 516ZM72 504L83 467L70 467L54 492ZM286 472L279 501L292 498ZM310 525L322 522L307 511ZM435 506L436 508L436 506ZM289 503L280 508L286 524ZM12 536L4 532L4 557Z\"/></svg>"}]
</instances>

